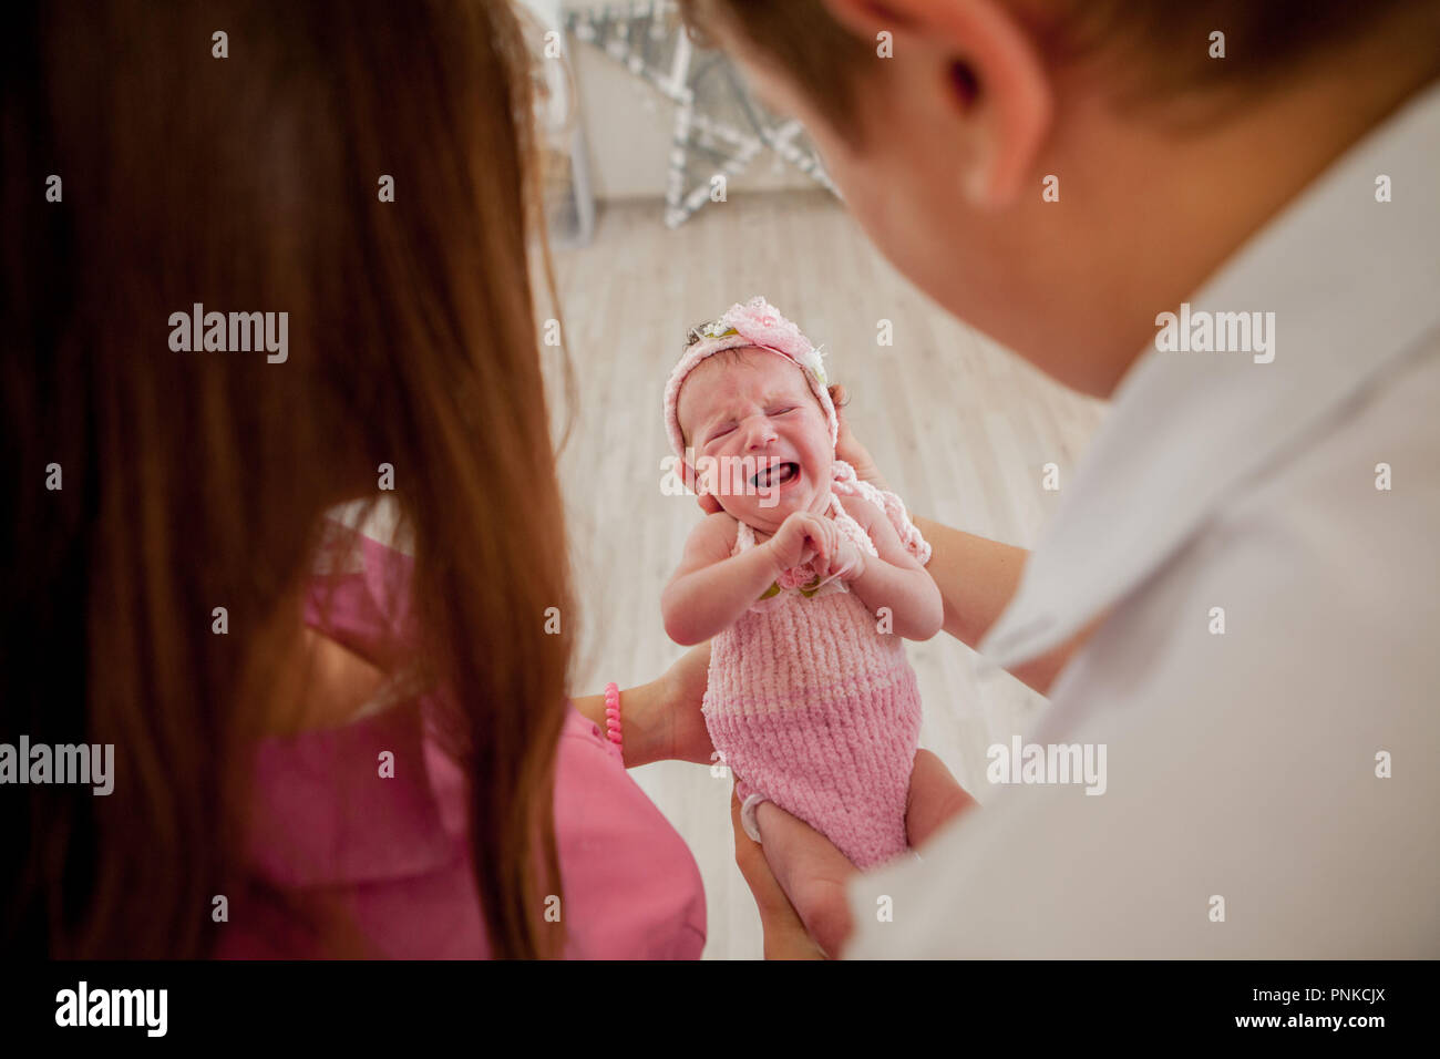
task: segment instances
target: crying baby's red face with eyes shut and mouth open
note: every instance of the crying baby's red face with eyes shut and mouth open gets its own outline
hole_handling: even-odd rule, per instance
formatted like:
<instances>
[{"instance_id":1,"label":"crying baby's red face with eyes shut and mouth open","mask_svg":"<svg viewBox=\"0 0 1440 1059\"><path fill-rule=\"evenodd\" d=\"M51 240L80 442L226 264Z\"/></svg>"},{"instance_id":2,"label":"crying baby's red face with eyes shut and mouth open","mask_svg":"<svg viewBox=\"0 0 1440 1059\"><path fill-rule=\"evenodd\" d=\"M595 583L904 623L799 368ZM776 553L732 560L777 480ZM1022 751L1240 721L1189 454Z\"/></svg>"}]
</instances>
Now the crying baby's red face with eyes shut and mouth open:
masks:
<instances>
[{"instance_id":1,"label":"crying baby's red face with eyes shut and mouth open","mask_svg":"<svg viewBox=\"0 0 1440 1059\"><path fill-rule=\"evenodd\" d=\"M773 533L792 511L829 504L835 450L804 370L769 350L707 357L677 405L701 488L740 522Z\"/></svg>"}]
</instances>

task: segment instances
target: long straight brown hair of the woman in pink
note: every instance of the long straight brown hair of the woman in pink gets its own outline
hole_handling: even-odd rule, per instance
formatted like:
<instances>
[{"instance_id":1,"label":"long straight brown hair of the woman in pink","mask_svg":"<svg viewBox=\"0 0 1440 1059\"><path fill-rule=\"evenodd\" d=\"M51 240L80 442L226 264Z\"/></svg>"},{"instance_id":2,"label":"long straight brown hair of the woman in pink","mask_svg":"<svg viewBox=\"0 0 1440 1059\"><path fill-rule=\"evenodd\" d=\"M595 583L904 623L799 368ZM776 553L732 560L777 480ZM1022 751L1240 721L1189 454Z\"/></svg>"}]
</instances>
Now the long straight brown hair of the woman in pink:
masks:
<instances>
[{"instance_id":1,"label":"long straight brown hair of the woman in pink","mask_svg":"<svg viewBox=\"0 0 1440 1059\"><path fill-rule=\"evenodd\" d=\"M4 791L0 948L212 949L297 586L325 511L390 464L416 553L408 663L452 703L491 949L557 952L573 621L514 13L112 0L7 19L0 739L114 743L115 791ZM171 350L194 303L287 311L288 360Z\"/></svg>"}]
</instances>

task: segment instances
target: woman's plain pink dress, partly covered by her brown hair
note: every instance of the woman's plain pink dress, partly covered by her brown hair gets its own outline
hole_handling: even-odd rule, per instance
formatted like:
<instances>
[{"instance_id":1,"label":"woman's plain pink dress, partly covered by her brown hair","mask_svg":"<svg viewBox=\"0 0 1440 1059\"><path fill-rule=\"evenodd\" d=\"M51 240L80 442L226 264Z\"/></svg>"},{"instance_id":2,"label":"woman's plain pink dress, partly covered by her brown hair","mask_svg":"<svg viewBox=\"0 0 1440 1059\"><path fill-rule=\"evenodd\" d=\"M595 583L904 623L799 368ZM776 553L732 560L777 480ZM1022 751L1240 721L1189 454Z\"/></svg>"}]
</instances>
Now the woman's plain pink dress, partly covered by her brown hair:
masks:
<instances>
[{"instance_id":1,"label":"woman's plain pink dress, partly covered by her brown hair","mask_svg":"<svg viewBox=\"0 0 1440 1059\"><path fill-rule=\"evenodd\" d=\"M405 621L412 560L367 539L363 555L361 572L333 582L323 615L311 596L307 621L361 657L383 660ZM393 778L377 775L382 751L395 755ZM557 754L566 955L698 958L706 901L684 840L573 706ZM488 957L462 779L403 705L343 728L265 741L248 860L261 885L230 895L217 955L320 955L285 903L325 895L340 899L374 955Z\"/></svg>"}]
</instances>

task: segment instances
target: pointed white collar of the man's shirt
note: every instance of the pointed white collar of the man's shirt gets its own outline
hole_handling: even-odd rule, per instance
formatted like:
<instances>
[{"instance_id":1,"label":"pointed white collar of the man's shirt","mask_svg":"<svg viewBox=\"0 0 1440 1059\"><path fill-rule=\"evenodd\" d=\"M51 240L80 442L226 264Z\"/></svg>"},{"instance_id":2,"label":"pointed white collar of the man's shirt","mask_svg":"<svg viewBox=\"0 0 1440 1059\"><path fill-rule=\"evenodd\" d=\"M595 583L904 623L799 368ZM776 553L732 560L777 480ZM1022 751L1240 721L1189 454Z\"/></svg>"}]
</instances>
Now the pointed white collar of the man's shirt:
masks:
<instances>
[{"instance_id":1,"label":"pointed white collar of the man's shirt","mask_svg":"<svg viewBox=\"0 0 1440 1059\"><path fill-rule=\"evenodd\" d=\"M1009 667L1083 628L1440 323L1436 171L1440 82L1367 134L1189 298L1192 313L1274 313L1274 360L1142 354L982 653ZM1392 202L1375 199L1381 174Z\"/></svg>"}]
</instances>

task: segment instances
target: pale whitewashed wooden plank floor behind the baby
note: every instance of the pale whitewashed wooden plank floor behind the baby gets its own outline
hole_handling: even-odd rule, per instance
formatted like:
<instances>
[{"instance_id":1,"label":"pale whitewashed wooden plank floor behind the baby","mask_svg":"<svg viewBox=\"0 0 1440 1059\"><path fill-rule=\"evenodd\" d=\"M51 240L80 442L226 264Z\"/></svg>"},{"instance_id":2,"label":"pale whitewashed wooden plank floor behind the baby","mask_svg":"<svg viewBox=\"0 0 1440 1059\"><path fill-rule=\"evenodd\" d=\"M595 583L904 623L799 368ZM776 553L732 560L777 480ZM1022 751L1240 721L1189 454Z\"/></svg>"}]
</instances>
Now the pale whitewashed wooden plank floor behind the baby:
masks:
<instances>
[{"instance_id":1,"label":"pale whitewashed wooden plank floor behind the baby","mask_svg":"<svg viewBox=\"0 0 1440 1059\"><path fill-rule=\"evenodd\" d=\"M681 650L660 592L700 519L662 496L665 379L690 326L768 297L851 392L857 437L912 511L1015 545L1035 542L1103 405L1048 382L912 290L825 193L733 197L671 232L660 203L602 210L593 245L556 255L579 405L562 454L582 612L576 693L658 676ZM894 344L877 344L890 320ZM547 372L557 376L559 354ZM924 699L922 745L984 801L985 748L1024 730L1044 700L943 633L909 647ZM757 958L759 918L734 867L730 781L664 762L634 778L690 844L706 883L707 957Z\"/></svg>"}]
</instances>

